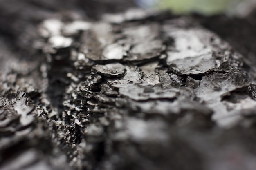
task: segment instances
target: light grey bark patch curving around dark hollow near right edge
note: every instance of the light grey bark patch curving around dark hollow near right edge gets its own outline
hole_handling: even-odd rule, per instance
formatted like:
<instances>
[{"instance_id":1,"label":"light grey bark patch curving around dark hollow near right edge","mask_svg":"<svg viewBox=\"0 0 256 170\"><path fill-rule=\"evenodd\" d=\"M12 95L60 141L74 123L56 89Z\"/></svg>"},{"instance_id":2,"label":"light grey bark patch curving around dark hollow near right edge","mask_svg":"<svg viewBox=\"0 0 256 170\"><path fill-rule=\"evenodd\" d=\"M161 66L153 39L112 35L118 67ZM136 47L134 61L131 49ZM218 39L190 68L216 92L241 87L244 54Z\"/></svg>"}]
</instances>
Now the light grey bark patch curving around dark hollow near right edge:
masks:
<instances>
[{"instance_id":1,"label":"light grey bark patch curving around dark hollow near right edge","mask_svg":"<svg viewBox=\"0 0 256 170\"><path fill-rule=\"evenodd\" d=\"M220 126L231 127L242 119L242 114L239 113L241 110L230 109L231 105L227 104L227 102L222 102L222 97L236 89L247 86L249 86L249 79L243 72L212 73L202 78L199 87L195 89L195 94L213 109L215 113L213 119ZM211 96L208 94L211 94ZM250 103L254 103L253 99L248 98L248 100L251 100Z\"/></svg>"}]
</instances>

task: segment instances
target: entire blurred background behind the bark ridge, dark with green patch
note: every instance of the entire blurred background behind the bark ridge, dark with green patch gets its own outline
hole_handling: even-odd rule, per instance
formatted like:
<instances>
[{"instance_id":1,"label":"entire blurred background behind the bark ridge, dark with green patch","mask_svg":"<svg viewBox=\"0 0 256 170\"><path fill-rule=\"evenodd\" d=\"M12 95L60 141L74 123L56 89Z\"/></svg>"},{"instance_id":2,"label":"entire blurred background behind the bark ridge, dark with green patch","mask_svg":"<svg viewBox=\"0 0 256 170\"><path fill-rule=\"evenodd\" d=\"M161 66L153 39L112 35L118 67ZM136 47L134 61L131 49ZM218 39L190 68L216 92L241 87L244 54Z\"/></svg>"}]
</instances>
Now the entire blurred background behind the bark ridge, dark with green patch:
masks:
<instances>
[{"instance_id":1,"label":"entire blurred background behind the bark ridge, dark with green patch","mask_svg":"<svg viewBox=\"0 0 256 170\"><path fill-rule=\"evenodd\" d=\"M99 20L104 13L134 7L197 14L203 26L256 64L256 0L0 0L0 40L12 51L27 53L37 36L35 26L46 18Z\"/></svg>"}]
</instances>

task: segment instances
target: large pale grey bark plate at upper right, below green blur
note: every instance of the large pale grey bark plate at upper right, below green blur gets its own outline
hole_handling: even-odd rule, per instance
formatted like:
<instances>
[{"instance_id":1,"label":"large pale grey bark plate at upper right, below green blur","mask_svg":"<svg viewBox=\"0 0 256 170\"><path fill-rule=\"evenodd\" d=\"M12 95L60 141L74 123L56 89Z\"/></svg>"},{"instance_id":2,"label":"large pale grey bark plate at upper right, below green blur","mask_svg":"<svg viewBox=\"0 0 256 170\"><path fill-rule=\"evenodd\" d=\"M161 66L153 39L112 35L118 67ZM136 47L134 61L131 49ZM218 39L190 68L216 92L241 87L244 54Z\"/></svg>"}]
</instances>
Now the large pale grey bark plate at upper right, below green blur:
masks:
<instances>
[{"instance_id":1,"label":"large pale grey bark plate at upper right, below green blur","mask_svg":"<svg viewBox=\"0 0 256 170\"><path fill-rule=\"evenodd\" d=\"M178 19L177 19L178 20ZM180 75L202 74L219 69L226 62L228 52L222 55L222 49L228 48L227 43L200 26L192 25L180 28L174 20L163 26L164 33L173 39L173 48L167 50L167 64L171 70ZM204 32L204 33L202 33ZM216 63L216 58L218 62Z\"/></svg>"}]
</instances>

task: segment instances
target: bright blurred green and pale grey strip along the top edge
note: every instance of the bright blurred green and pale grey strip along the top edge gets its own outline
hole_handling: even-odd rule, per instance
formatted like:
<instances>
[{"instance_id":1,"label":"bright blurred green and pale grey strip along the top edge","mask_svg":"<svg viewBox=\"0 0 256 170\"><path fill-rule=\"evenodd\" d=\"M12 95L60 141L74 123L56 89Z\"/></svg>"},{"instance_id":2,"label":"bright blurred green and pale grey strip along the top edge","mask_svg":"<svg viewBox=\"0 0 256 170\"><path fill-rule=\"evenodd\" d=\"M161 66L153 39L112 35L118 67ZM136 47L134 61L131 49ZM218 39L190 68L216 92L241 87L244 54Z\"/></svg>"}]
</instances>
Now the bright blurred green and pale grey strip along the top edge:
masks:
<instances>
[{"instance_id":1,"label":"bright blurred green and pale grey strip along the top edge","mask_svg":"<svg viewBox=\"0 0 256 170\"><path fill-rule=\"evenodd\" d=\"M135 0L142 8L171 9L176 14L245 16L256 7L256 0Z\"/></svg>"}]
</instances>

